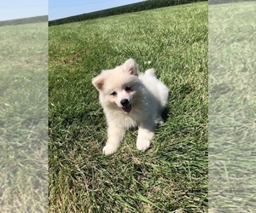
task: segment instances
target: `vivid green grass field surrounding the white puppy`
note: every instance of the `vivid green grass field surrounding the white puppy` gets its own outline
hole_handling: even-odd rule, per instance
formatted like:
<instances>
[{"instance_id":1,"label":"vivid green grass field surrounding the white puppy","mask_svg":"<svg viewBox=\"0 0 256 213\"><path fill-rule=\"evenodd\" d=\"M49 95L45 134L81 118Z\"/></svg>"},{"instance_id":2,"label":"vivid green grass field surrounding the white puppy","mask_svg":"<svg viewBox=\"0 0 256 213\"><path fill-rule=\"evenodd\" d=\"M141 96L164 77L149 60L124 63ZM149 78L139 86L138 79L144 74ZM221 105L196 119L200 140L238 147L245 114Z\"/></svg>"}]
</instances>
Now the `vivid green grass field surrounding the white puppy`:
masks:
<instances>
[{"instance_id":1,"label":"vivid green grass field surrounding the white puppy","mask_svg":"<svg viewBox=\"0 0 256 213\"><path fill-rule=\"evenodd\" d=\"M49 212L207 212L207 50L207 3L49 27ZM166 121L104 156L91 78L130 57L171 90Z\"/></svg>"}]
</instances>

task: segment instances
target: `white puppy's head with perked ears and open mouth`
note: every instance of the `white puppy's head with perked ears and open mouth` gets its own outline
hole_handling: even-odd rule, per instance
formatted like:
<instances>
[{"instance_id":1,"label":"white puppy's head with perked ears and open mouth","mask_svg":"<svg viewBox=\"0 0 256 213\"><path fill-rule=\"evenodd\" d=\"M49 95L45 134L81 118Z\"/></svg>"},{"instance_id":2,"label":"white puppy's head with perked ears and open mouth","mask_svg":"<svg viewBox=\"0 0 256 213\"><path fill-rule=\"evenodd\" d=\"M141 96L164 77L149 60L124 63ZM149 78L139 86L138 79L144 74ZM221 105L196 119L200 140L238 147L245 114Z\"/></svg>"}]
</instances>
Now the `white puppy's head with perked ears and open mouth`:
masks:
<instances>
[{"instance_id":1,"label":"white puppy's head with perked ears and open mouth","mask_svg":"<svg viewBox=\"0 0 256 213\"><path fill-rule=\"evenodd\" d=\"M105 70L92 79L93 85L100 93L103 106L117 108L125 113L131 112L133 98L137 93L137 64L126 60L124 64L112 70Z\"/></svg>"}]
</instances>

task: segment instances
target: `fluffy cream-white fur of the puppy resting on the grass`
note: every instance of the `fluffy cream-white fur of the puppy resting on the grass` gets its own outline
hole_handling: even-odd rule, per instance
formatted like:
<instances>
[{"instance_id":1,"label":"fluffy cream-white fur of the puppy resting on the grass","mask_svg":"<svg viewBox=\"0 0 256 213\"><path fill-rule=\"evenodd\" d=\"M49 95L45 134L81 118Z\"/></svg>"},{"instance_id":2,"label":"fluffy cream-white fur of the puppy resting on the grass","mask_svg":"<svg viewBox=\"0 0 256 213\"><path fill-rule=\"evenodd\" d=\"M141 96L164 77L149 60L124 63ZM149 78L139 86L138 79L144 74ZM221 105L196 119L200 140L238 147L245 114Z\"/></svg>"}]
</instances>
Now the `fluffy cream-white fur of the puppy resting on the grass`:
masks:
<instances>
[{"instance_id":1,"label":"fluffy cream-white fur of the puppy resting on the grass","mask_svg":"<svg viewBox=\"0 0 256 213\"><path fill-rule=\"evenodd\" d=\"M166 85L155 78L154 69L138 73L136 62L129 59L112 70L102 71L92 79L92 83L99 91L100 103L108 121L108 141L103 153L114 153L125 130L136 126L137 148L147 150L156 125L162 122L161 113L169 93ZM123 100L129 102L125 110L122 109Z\"/></svg>"}]
</instances>

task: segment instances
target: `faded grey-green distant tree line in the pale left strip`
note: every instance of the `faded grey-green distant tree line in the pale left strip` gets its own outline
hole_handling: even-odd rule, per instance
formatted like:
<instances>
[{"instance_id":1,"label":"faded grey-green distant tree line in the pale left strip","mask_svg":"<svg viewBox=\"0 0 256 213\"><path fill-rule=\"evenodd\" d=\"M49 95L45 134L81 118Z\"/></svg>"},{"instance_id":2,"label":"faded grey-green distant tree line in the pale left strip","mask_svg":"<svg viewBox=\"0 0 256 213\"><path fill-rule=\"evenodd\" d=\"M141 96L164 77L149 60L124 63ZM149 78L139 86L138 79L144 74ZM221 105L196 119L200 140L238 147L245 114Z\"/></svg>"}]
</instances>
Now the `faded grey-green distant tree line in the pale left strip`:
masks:
<instances>
[{"instance_id":1,"label":"faded grey-green distant tree line in the pale left strip","mask_svg":"<svg viewBox=\"0 0 256 213\"><path fill-rule=\"evenodd\" d=\"M18 20L3 20L3 21L0 21L0 26L16 26L16 25L44 22L44 21L45 22L48 21L48 15L18 19Z\"/></svg>"}]
</instances>

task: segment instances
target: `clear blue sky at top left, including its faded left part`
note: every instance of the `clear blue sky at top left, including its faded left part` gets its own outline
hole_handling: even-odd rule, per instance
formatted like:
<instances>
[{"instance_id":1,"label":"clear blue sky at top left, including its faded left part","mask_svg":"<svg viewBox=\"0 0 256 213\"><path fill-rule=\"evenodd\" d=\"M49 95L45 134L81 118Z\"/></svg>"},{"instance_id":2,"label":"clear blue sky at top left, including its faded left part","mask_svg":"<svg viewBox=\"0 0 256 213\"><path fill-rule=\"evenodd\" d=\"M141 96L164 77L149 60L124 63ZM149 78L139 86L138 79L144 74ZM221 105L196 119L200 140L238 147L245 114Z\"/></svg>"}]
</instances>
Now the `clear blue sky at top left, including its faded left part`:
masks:
<instances>
[{"instance_id":1,"label":"clear blue sky at top left, including its faded left part","mask_svg":"<svg viewBox=\"0 0 256 213\"><path fill-rule=\"evenodd\" d=\"M0 20L49 14L49 20L109 9L143 0L0 0Z\"/></svg>"}]
</instances>

